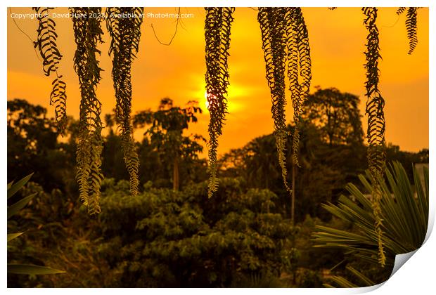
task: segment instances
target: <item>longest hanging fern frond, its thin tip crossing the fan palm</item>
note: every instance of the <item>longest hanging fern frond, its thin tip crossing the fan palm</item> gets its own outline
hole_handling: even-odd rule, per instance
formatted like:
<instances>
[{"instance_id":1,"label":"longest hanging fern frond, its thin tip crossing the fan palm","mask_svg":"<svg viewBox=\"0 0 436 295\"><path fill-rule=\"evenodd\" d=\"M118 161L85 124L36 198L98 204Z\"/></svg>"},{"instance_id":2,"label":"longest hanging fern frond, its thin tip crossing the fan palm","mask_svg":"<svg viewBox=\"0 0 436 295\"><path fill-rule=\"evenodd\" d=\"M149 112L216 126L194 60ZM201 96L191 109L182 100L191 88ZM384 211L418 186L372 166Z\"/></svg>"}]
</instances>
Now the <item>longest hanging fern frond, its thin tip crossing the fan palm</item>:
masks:
<instances>
[{"instance_id":1,"label":"longest hanging fern frond, its thin tip crossing the fan palm","mask_svg":"<svg viewBox=\"0 0 436 295\"><path fill-rule=\"evenodd\" d=\"M378 39L378 28L376 25L377 8L362 8L365 15L364 25L368 30L366 37L366 114L368 114L368 166L373 178L378 179L383 176L385 170L385 114L383 108L385 100L378 89L379 70L378 60L380 60L380 47ZM374 186L373 213L376 219L376 232L378 235L378 258L382 266L385 265L385 252L383 250L382 218L380 209L381 193L378 185Z\"/></svg>"}]
</instances>

